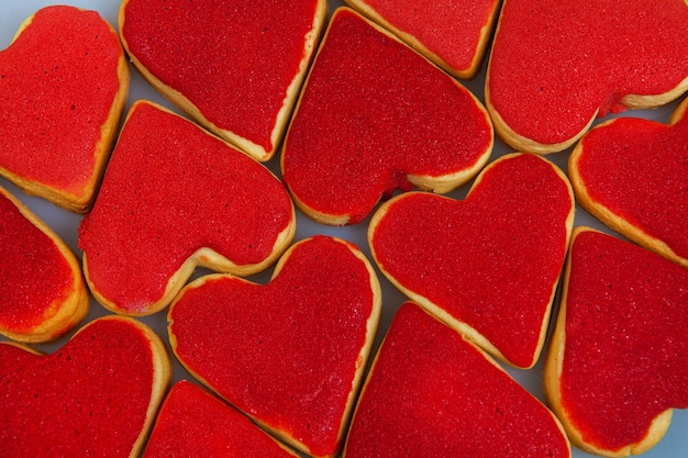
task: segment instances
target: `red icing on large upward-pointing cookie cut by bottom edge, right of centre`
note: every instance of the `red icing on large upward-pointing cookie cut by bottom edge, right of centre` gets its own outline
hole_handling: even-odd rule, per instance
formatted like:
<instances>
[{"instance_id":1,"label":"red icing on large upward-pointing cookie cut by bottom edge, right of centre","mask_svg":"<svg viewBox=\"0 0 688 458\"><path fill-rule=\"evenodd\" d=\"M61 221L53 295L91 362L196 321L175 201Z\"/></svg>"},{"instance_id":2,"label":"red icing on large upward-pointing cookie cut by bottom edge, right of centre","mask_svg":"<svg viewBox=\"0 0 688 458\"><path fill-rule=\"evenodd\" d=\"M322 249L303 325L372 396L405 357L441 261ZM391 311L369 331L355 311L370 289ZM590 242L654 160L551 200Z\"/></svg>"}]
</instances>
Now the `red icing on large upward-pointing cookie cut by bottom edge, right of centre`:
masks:
<instances>
[{"instance_id":1,"label":"red icing on large upward-pointing cookie cut by bottom edge, right of centre","mask_svg":"<svg viewBox=\"0 0 688 458\"><path fill-rule=\"evenodd\" d=\"M456 332L401 306L346 457L569 457L553 415Z\"/></svg>"}]
</instances>

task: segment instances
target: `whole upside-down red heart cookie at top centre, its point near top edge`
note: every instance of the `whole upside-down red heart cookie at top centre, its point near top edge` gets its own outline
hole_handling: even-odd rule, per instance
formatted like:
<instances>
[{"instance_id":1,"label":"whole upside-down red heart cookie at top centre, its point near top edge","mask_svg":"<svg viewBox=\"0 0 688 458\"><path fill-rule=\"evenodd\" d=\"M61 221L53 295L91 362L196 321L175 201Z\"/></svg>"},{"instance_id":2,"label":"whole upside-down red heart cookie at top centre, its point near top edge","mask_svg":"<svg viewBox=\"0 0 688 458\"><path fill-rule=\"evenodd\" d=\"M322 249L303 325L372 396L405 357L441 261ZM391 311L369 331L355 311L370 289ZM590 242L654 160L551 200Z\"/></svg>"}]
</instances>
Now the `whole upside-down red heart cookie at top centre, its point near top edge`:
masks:
<instances>
[{"instance_id":1,"label":"whole upside-down red heart cookie at top centre, its point near top edge","mask_svg":"<svg viewBox=\"0 0 688 458\"><path fill-rule=\"evenodd\" d=\"M289 127L282 179L315 221L354 224L396 189L465 183L492 142L487 111L467 89L342 8Z\"/></svg>"}]
</instances>

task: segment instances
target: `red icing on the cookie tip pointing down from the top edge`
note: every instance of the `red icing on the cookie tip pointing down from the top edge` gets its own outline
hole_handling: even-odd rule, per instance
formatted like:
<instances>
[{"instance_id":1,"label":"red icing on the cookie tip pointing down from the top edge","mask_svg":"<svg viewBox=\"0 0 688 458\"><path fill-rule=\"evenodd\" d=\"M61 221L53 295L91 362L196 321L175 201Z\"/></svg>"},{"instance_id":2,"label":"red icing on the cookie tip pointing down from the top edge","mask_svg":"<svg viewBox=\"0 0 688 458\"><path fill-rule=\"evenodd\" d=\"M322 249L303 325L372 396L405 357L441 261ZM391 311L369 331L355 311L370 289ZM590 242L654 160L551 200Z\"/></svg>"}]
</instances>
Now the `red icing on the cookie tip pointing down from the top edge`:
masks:
<instances>
[{"instance_id":1,"label":"red icing on the cookie tip pointing down from the top edge","mask_svg":"<svg viewBox=\"0 0 688 458\"><path fill-rule=\"evenodd\" d=\"M414 36L452 68L474 62L481 29L498 8L495 0L365 0L380 16Z\"/></svg>"}]
</instances>

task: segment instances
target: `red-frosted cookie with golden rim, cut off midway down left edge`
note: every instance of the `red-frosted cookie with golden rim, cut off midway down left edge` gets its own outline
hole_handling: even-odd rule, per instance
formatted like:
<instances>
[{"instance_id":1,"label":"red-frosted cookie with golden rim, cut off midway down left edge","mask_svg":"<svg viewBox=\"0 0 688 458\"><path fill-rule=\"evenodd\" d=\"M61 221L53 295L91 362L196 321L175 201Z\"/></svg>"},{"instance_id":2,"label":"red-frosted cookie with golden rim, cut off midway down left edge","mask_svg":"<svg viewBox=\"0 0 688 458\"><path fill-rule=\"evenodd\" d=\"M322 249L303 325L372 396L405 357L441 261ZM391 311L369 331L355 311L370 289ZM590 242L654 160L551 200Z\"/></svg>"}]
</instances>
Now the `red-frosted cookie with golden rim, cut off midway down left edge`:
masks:
<instances>
[{"instance_id":1,"label":"red-frosted cookie with golden rim, cut off midway down left edge","mask_svg":"<svg viewBox=\"0 0 688 458\"><path fill-rule=\"evenodd\" d=\"M0 334L26 343L60 337L89 309L79 261L2 188L0 215Z\"/></svg>"}]
</instances>

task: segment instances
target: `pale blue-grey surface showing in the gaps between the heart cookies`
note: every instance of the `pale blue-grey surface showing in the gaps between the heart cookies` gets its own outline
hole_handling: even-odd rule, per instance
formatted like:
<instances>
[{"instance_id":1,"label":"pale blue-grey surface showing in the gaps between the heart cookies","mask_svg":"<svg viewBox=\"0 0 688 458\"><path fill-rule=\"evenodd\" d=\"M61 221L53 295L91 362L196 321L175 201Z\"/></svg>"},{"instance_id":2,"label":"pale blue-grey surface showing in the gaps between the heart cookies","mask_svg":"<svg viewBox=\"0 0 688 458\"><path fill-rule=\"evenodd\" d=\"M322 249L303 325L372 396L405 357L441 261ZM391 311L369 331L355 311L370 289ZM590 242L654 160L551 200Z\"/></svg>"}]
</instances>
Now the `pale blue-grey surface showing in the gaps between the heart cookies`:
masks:
<instances>
[{"instance_id":1,"label":"pale blue-grey surface showing in the gaps between the heart cookies","mask_svg":"<svg viewBox=\"0 0 688 458\"><path fill-rule=\"evenodd\" d=\"M37 9L47 5L54 4L54 1L30 1L30 0L9 0L0 2L0 49L4 49L9 46L12 37L14 36L16 29L23 22L24 19L29 18L33 12ZM86 8L98 10L101 15L109 21L116 29L118 21L118 9L120 5L119 0L68 0L66 3ZM330 0L330 12L333 11L334 8L342 4L341 1ZM485 78L485 64L482 65L482 71L470 81L463 81L463 83L471 90L481 102L485 102L484 98L484 78ZM147 99L160 103L165 107L173 109L178 112L169 102L167 102L162 96L159 96L147 82L145 82L138 72L131 67L131 87L127 99L127 109L131 103L138 99ZM668 118L676 107L676 102L669 105L659 108L657 110L652 111L634 111L626 112L622 115L633 115L653 119L661 122L668 122ZM496 141L495 149L492 152L491 159L495 159L506 153L511 153L512 149L499 142ZM547 155L546 158L555 163L559 166L564 171L566 171L566 163L568 159L569 150L565 150L563 153L557 153L554 155ZM268 168L270 168L276 175L279 176L279 153L275 155L275 157L266 164ZM77 254L78 257L81 256L81 253L77 248L77 230L79 225L79 221L81 216L63 211L57 209L53 204L34 197L29 197L20 191L16 187L11 185L9 181L0 178L0 186L8 189L11 193L16 196L20 200L22 200L34 213L38 215L43 221L45 221ZM467 186L452 192L450 196L456 199L463 199L469 189L470 183ZM580 208L576 210L576 225L588 225L592 227L597 227L604 232L611 233L608 228L602 226L599 222L592 219L588 213L586 213ZM311 220L303 216L301 213L297 215L297 239L306 238L317 234L325 234L333 235L341 238L348 239L356 244L363 252L366 254L368 259L373 261L370 256L370 252L368 249L368 244L366 239L366 228L367 228L367 220L363 223L355 226L346 226L346 227L330 227L317 224ZM374 264L374 262L373 262ZM202 275L203 271L199 271L197 275ZM271 269L268 271L252 277L251 279L265 283L268 281L269 276L271 273ZM379 280L382 284L382 300L384 300L384 311L382 317L380 321L380 328L378 333L378 338L376 340L376 348L379 344L381 336L389 326L389 322L393 316L398 306L406 300L406 298L399 293L387 280L386 278L379 273ZM1 281L1 280L0 280ZM555 300L555 309L556 312L556 302L558 302L558 297ZM91 301L91 308L88 315L88 321L91 321L96 317L109 314L106 309L103 309L100 304L98 304L95 300ZM166 311L159 312L155 315L147 316L141 319L143 322L148 324L155 332L157 332L165 343L167 343L167 321L166 321ZM66 336L60 340L49 344L37 346L41 351L52 353L56 348L64 345L64 343L69 338ZM544 356L543 351L543 356ZM170 353L171 356L171 353ZM523 387L525 387L529 391L531 391L535 396L540 400L544 401L544 394L542 389L542 359L541 361L530 370L521 370L506 367L506 369L511 373ZM171 356L173 365L174 365L174 375L173 381L189 378L188 373L179 366L179 364L175 360L174 356ZM575 447L573 448L574 457L589 457L590 455L585 454ZM643 455L646 458L686 458L688 457L688 411L675 411L674 420L669 431L667 432L664 439L652 450Z\"/></svg>"}]
</instances>

